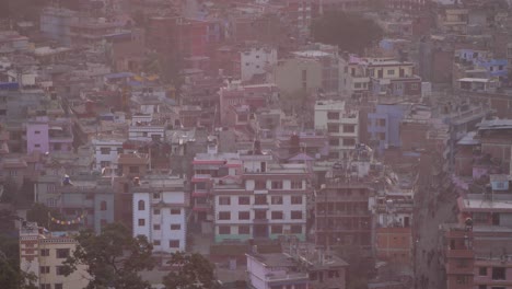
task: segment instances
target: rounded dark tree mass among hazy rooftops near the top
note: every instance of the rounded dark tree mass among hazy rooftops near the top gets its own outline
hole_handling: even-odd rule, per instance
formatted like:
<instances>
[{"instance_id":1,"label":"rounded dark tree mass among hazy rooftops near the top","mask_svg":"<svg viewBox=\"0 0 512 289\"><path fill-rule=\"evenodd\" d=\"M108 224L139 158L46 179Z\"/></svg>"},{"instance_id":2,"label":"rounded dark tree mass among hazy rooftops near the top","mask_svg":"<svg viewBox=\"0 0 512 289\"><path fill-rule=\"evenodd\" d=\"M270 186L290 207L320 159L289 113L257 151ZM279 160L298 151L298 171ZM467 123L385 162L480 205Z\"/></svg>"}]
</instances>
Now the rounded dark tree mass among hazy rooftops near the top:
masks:
<instances>
[{"instance_id":1,"label":"rounded dark tree mass among hazy rooftops near the top","mask_svg":"<svg viewBox=\"0 0 512 289\"><path fill-rule=\"evenodd\" d=\"M384 32L374 21L359 14L329 12L311 27L316 42L337 45L340 50L362 54L382 39Z\"/></svg>"}]
</instances>

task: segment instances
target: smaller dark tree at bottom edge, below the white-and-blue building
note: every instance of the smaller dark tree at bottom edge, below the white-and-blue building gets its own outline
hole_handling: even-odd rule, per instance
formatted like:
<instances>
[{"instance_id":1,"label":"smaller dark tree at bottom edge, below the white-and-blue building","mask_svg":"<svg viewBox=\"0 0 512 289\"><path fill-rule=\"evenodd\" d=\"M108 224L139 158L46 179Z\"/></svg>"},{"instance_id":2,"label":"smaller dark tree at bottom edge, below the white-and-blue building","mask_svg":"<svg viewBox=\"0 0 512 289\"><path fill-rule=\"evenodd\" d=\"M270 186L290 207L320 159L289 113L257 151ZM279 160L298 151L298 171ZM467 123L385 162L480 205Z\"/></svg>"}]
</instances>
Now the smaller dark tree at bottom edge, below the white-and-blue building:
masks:
<instances>
[{"instance_id":1,"label":"smaller dark tree at bottom edge, below the white-and-blue building","mask_svg":"<svg viewBox=\"0 0 512 289\"><path fill-rule=\"evenodd\" d=\"M174 253L168 264L176 269L164 277L167 289L214 289L217 281L211 264L201 254Z\"/></svg>"}]
</instances>

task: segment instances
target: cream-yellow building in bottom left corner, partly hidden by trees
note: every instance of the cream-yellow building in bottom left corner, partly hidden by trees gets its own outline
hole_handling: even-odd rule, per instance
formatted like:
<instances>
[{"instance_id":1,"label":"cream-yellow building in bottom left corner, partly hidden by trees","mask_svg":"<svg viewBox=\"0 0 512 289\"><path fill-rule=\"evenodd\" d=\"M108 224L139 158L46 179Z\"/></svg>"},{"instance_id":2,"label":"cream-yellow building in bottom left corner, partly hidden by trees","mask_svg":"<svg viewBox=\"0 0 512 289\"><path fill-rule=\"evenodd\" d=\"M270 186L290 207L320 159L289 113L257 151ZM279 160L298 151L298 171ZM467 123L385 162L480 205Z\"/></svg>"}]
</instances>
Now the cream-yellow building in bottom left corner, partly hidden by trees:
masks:
<instances>
[{"instance_id":1,"label":"cream-yellow building in bottom left corner, partly hidden by trees","mask_svg":"<svg viewBox=\"0 0 512 289\"><path fill-rule=\"evenodd\" d=\"M36 276L40 289L85 288L90 280L85 266L77 266L69 276L61 271L62 263L75 246L77 241L69 235L47 232L35 222L24 222L20 229L20 267Z\"/></svg>"}]
</instances>

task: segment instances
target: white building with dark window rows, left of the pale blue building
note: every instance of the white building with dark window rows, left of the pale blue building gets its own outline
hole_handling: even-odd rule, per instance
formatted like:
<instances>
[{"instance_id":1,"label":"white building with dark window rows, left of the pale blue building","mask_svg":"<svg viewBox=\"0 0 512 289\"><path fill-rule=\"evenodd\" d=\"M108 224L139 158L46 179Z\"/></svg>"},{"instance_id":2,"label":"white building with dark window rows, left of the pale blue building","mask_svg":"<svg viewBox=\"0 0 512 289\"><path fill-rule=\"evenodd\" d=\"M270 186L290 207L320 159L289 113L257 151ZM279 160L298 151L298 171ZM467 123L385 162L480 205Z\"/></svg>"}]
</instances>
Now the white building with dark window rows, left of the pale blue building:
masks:
<instances>
[{"instance_id":1,"label":"white building with dark window rows, left of the pale blue building","mask_svg":"<svg viewBox=\"0 0 512 289\"><path fill-rule=\"evenodd\" d=\"M315 129L327 131L331 158L347 158L359 143L359 112L347 109L342 101L317 101Z\"/></svg>"}]
</instances>

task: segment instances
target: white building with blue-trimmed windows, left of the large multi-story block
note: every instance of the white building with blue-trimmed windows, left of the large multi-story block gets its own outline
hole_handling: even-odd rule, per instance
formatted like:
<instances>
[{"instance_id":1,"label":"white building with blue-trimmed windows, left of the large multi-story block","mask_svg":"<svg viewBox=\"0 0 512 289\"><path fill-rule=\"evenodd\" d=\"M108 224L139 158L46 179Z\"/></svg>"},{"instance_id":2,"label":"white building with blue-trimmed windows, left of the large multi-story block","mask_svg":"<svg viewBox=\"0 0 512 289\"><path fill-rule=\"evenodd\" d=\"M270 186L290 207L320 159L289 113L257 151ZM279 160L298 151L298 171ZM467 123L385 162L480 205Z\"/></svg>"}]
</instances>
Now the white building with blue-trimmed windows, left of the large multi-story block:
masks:
<instances>
[{"instance_id":1,"label":"white building with blue-trimmed windows, left of the large multi-story block","mask_svg":"<svg viewBox=\"0 0 512 289\"><path fill-rule=\"evenodd\" d=\"M141 180L133 192L133 235L146 235L154 252L185 251L186 208L185 180L152 175Z\"/></svg>"}]
</instances>

